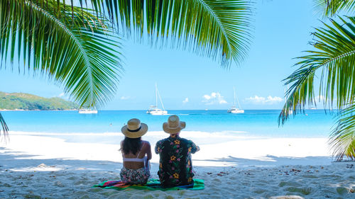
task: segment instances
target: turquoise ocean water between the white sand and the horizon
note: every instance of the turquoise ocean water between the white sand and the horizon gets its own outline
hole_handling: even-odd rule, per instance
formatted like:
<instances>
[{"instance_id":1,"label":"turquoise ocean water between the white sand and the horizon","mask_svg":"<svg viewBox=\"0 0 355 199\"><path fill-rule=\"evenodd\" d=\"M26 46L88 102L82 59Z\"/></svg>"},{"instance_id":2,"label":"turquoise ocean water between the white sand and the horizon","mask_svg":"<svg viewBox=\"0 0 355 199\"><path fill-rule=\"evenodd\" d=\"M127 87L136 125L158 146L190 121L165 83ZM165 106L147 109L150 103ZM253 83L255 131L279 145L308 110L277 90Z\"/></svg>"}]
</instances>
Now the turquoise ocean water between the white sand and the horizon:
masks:
<instances>
[{"instance_id":1,"label":"turquoise ocean water between the white sand and the horizon","mask_svg":"<svg viewBox=\"0 0 355 199\"><path fill-rule=\"evenodd\" d=\"M324 110L307 110L278 125L280 110L245 110L244 114L226 110L168 110L186 122L185 131L239 134L246 137L328 137L334 115ZM11 131L46 133L121 132L131 118L148 125L149 131L162 131L169 115L148 115L146 110L99 110L98 114L77 111L3 111Z\"/></svg>"}]
</instances>

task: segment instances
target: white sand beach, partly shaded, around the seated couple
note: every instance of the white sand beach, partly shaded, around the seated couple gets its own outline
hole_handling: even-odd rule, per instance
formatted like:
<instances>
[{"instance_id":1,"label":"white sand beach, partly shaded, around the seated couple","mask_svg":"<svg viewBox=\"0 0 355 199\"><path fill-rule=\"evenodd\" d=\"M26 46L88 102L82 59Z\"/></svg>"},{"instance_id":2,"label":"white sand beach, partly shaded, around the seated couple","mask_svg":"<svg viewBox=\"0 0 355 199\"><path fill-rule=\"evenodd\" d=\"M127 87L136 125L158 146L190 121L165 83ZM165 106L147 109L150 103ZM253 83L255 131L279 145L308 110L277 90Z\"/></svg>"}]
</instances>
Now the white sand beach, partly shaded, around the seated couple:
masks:
<instances>
[{"instance_id":1,"label":"white sand beach, partly shaded, around the seated couple","mask_svg":"<svg viewBox=\"0 0 355 199\"><path fill-rule=\"evenodd\" d=\"M92 186L119 179L118 144L90 142L97 134L81 135L87 142L70 142L75 134L10 135L0 145L0 198L355 198L355 164L332 162L326 138L212 134L212 144L204 132L183 132L200 145L192 159L195 178L205 181L203 191L116 191ZM122 139L119 133L104 136ZM150 132L145 138L154 147L166 136ZM158 178L157 165L153 154L151 178Z\"/></svg>"}]
</instances>

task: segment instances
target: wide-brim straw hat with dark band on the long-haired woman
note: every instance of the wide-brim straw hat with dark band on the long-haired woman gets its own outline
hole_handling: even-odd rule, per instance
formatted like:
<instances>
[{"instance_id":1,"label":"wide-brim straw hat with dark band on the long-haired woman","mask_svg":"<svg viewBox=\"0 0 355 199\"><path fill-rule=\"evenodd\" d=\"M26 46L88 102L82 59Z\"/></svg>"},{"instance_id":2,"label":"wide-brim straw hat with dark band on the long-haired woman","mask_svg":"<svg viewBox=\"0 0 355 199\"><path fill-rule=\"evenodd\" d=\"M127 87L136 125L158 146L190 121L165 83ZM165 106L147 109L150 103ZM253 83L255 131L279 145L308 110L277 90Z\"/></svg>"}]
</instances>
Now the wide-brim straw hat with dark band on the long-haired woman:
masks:
<instances>
[{"instance_id":1,"label":"wide-brim straw hat with dark band on the long-haired woman","mask_svg":"<svg viewBox=\"0 0 355 199\"><path fill-rule=\"evenodd\" d=\"M148 131L148 125L141 123L141 120L133 118L128 121L127 125L121 128L124 136L129 138L142 137Z\"/></svg>"}]
</instances>

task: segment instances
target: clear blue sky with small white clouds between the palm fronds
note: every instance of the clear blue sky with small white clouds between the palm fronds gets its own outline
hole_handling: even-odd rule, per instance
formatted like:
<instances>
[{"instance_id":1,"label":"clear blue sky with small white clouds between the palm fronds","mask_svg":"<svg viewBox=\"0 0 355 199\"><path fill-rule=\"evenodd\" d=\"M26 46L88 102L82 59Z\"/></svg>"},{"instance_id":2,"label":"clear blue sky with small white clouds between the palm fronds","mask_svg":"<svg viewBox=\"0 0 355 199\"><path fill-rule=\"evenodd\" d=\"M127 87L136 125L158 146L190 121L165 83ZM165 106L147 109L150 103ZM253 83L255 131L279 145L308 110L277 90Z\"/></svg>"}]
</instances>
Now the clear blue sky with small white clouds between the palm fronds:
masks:
<instances>
[{"instance_id":1,"label":"clear blue sky with small white clouds between the palm fronds","mask_svg":"<svg viewBox=\"0 0 355 199\"><path fill-rule=\"evenodd\" d=\"M249 56L241 66L223 69L193 52L153 49L124 41L125 73L115 98L102 109L142 110L155 103L155 82L166 109L227 109L233 86L244 109L280 109L282 79L296 68L294 57L311 48L310 33L321 26L310 0L258 1ZM15 66L16 67L16 66ZM2 69L0 91L63 96L63 89L43 76Z\"/></svg>"}]
</instances>

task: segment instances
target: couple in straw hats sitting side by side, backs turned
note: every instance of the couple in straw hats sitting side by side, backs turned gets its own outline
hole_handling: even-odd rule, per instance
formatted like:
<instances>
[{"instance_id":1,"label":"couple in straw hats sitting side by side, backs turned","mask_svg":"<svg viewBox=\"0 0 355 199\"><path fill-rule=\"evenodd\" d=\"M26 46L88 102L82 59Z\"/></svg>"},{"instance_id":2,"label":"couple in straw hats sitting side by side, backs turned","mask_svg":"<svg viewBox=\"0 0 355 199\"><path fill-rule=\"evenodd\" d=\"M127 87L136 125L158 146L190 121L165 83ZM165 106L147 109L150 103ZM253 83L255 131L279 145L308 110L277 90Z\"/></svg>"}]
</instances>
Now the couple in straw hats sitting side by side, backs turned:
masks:
<instances>
[{"instance_id":1,"label":"couple in straw hats sitting side by side, backs turned","mask_svg":"<svg viewBox=\"0 0 355 199\"><path fill-rule=\"evenodd\" d=\"M177 115L171 115L168 123L163 124L163 130L170 136L155 145L155 153L160 155L158 176L163 187L182 186L193 182L191 154L200 148L194 142L179 136L180 130L185 126L186 123L180 122ZM141 137L148 131L148 126L138 119L131 119L121 131L125 136L121 142L124 160L121 181L145 184L151 176L148 161L152 153L151 144Z\"/></svg>"}]
</instances>

